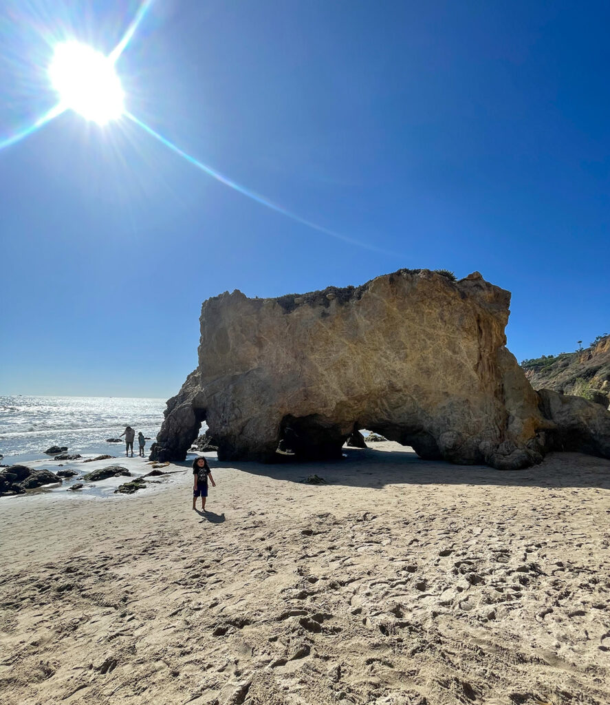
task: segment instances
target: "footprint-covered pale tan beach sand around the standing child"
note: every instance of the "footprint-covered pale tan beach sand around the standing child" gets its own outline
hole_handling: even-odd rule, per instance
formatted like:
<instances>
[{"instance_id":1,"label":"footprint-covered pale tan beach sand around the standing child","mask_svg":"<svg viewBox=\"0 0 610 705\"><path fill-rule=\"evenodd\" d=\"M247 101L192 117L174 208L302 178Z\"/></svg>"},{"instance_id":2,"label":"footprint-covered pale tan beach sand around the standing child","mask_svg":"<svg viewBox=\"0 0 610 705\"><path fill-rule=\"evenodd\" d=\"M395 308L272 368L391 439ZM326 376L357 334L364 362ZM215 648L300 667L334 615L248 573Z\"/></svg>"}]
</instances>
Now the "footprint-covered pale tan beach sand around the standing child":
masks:
<instances>
[{"instance_id":1,"label":"footprint-covered pale tan beach sand around the standing child","mask_svg":"<svg viewBox=\"0 0 610 705\"><path fill-rule=\"evenodd\" d=\"M610 461L347 455L0 501L0 701L610 702Z\"/></svg>"}]
</instances>

